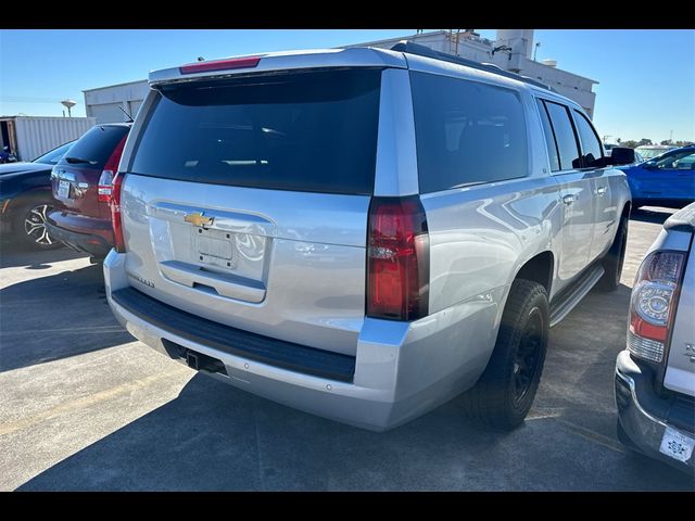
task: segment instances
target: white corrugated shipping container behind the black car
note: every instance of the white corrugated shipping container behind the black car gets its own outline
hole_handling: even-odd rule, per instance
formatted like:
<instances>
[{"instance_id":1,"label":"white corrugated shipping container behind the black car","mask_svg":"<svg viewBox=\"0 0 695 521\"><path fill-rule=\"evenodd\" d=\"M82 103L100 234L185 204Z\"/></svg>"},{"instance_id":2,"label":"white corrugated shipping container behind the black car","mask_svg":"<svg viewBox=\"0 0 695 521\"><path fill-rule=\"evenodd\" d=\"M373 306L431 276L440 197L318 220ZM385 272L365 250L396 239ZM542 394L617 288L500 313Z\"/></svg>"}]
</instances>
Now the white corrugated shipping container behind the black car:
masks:
<instances>
[{"instance_id":1,"label":"white corrugated shipping container behind the black car","mask_svg":"<svg viewBox=\"0 0 695 521\"><path fill-rule=\"evenodd\" d=\"M96 122L93 117L0 117L0 147L10 147L18 161L33 161L79 138Z\"/></svg>"}]
</instances>

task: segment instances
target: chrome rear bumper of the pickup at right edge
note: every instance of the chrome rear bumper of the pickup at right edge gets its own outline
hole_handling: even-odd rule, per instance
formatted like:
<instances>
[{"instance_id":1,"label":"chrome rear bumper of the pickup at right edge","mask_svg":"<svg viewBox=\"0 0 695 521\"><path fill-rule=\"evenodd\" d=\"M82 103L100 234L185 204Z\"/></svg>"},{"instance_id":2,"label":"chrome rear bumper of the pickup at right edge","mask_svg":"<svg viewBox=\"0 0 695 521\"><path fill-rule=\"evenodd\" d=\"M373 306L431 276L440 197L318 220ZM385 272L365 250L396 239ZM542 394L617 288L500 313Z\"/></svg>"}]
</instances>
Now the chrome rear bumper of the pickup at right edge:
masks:
<instances>
[{"instance_id":1,"label":"chrome rear bumper of the pickup at right edge","mask_svg":"<svg viewBox=\"0 0 695 521\"><path fill-rule=\"evenodd\" d=\"M640 452L686 472L695 469L695 455L681 462L659 452L667 428L695 437L694 411L658 396L652 374L643 372L628 351L621 351L616 360L616 405L620 424Z\"/></svg>"}]
</instances>

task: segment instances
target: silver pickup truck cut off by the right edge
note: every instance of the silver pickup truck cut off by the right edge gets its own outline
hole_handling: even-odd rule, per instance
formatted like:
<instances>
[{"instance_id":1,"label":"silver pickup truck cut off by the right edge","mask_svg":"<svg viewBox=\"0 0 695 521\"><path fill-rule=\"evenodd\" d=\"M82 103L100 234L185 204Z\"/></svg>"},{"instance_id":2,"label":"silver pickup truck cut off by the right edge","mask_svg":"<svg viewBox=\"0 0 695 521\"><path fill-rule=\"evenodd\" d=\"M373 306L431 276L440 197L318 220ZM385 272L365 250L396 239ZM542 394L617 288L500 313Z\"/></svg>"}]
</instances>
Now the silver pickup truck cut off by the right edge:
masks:
<instances>
[{"instance_id":1,"label":"silver pickup truck cut off by the right edge","mask_svg":"<svg viewBox=\"0 0 695 521\"><path fill-rule=\"evenodd\" d=\"M695 203L664 225L635 277L628 346L616 363L618 437L695 470Z\"/></svg>"}]
</instances>

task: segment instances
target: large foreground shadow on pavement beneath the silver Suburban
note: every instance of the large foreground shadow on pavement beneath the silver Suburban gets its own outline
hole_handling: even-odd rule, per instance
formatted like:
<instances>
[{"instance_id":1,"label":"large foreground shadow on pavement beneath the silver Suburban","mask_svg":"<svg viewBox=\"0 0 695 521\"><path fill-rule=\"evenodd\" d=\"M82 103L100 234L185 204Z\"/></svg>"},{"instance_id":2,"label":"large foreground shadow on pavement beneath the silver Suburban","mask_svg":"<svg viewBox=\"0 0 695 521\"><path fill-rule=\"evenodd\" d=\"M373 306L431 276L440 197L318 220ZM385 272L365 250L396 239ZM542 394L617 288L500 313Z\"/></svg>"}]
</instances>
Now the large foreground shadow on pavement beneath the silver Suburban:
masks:
<instances>
[{"instance_id":1,"label":"large foreground shadow on pavement beneath the silver Suburban","mask_svg":"<svg viewBox=\"0 0 695 521\"><path fill-rule=\"evenodd\" d=\"M468 423L458 399L372 433L197 374L176 399L18 490L694 490L684 474L620 447L612 370L624 341L578 334L586 321L624 340L629 296L624 285L591 293L583 313L553 329L536 406L511 433Z\"/></svg>"}]
</instances>

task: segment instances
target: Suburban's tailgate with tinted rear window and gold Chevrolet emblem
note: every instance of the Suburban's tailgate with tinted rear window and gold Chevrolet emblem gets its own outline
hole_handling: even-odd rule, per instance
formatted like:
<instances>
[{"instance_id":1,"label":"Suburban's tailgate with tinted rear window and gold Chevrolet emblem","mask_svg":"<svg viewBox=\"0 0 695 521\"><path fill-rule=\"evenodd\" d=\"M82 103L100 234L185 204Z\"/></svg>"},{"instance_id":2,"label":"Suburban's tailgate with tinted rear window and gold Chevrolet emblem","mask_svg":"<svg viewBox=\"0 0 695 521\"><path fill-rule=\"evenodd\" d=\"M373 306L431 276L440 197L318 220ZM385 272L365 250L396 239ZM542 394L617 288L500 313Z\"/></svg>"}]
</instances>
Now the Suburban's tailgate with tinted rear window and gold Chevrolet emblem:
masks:
<instances>
[{"instance_id":1,"label":"Suburban's tailgate with tinted rear window and gold Chevrolet emblem","mask_svg":"<svg viewBox=\"0 0 695 521\"><path fill-rule=\"evenodd\" d=\"M354 355L380 74L273 74L152 92L121 165L131 284L210 320Z\"/></svg>"}]
</instances>

